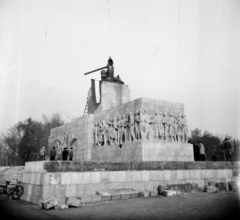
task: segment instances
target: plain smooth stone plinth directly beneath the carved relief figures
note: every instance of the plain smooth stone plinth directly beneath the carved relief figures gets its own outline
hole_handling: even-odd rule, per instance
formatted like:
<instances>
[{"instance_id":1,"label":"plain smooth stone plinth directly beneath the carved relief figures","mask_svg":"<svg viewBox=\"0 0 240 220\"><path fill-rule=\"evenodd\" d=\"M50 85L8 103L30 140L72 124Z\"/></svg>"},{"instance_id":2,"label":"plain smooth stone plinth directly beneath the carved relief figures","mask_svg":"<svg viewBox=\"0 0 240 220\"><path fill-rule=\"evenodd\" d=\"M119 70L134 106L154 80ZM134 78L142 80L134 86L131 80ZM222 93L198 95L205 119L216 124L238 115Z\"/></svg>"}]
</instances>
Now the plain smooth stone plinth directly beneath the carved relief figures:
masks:
<instances>
[{"instance_id":1,"label":"plain smooth stone plinth directly beneath the carved relief figures","mask_svg":"<svg viewBox=\"0 0 240 220\"><path fill-rule=\"evenodd\" d=\"M91 149L92 161L194 161L191 144L134 141Z\"/></svg>"}]
</instances>

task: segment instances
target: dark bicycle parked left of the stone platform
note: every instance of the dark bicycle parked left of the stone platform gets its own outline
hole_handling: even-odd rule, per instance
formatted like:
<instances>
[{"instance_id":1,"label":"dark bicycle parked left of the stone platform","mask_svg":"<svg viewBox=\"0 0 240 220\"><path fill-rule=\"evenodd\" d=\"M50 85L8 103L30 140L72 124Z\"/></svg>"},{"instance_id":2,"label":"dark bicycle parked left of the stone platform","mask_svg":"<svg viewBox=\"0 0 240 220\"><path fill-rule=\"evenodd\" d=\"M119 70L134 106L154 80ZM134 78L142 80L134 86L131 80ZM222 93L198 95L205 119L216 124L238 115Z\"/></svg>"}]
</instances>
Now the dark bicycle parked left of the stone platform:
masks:
<instances>
[{"instance_id":1,"label":"dark bicycle parked left of the stone platform","mask_svg":"<svg viewBox=\"0 0 240 220\"><path fill-rule=\"evenodd\" d=\"M12 199L19 199L24 192L23 186L20 185L21 182L17 180L16 185L9 188L8 185L10 184L11 181L7 181L7 180L5 180L5 181L6 181L6 185L0 185L0 194L7 194L8 199L10 197Z\"/></svg>"}]
</instances>

